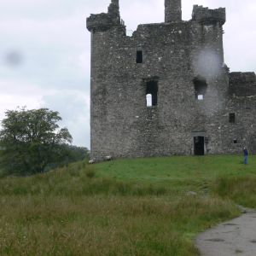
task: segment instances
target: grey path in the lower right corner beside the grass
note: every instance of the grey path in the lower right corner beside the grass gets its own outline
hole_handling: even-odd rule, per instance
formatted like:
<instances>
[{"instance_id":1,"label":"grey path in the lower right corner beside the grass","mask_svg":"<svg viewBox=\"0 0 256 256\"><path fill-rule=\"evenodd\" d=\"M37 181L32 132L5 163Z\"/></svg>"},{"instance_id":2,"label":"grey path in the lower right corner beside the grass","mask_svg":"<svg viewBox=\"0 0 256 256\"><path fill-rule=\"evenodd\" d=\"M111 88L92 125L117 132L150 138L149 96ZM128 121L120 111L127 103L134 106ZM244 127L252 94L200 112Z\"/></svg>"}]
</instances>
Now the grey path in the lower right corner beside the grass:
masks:
<instances>
[{"instance_id":1,"label":"grey path in the lower right corner beside the grass","mask_svg":"<svg viewBox=\"0 0 256 256\"><path fill-rule=\"evenodd\" d=\"M243 212L196 238L202 256L256 256L256 212Z\"/></svg>"}]
</instances>

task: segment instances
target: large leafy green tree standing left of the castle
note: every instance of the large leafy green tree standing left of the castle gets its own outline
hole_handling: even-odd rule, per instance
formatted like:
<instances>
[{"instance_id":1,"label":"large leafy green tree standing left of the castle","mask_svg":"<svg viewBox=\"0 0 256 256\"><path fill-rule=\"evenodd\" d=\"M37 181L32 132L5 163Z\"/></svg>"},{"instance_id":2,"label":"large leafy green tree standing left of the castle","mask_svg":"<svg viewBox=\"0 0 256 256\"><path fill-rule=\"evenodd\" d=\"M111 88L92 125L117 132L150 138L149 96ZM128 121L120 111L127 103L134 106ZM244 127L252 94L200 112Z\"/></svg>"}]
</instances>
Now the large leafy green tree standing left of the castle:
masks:
<instances>
[{"instance_id":1,"label":"large leafy green tree standing left of the castle","mask_svg":"<svg viewBox=\"0 0 256 256\"><path fill-rule=\"evenodd\" d=\"M72 143L67 128L59 128L58 112L48 108L7 110L0 131L1 164L5 172L32 174L61 162L63 145Z\"/></svg>"}]
</instances>

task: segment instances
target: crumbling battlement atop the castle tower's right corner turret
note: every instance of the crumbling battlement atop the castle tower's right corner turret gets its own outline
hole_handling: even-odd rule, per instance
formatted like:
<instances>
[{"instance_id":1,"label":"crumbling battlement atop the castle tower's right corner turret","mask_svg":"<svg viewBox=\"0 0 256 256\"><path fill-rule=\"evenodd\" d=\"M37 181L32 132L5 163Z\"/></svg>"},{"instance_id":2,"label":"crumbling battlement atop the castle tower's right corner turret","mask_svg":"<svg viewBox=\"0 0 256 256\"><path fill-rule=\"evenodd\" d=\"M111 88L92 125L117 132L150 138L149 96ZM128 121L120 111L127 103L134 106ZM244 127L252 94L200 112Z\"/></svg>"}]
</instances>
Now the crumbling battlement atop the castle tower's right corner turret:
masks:
<instances>
[{"instance_id":1,"label":"crumbling battlement atop the castle tower's right corner turret","mask_svg":"<svg viewBox=\"0 0 256 256\"><path fill-rule=\"evenodd\" d=\"M201 5L194 5L192 20L203 24L220 23L224 25L226 22L226 10L224 8L208 9Z\"/></svg>"}]
</instances>

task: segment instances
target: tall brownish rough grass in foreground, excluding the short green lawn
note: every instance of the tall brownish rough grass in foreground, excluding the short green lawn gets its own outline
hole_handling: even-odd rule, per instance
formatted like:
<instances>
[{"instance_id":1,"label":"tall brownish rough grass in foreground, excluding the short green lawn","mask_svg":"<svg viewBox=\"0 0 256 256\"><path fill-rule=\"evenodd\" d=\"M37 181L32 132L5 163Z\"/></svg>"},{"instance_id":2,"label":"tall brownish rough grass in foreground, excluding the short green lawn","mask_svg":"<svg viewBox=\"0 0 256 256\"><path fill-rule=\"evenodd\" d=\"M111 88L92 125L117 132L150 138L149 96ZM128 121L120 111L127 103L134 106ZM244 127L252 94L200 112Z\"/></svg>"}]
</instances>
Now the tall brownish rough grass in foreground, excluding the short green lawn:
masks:
<instances>
[{"instance_id":1,"label":"tall brownish rough grass in foreground, excluding the short green lawn","mask_svg":"<svg viewBox=\"0 0 256 256\"><path fill-rule=\"evenodd\" d=\"M194 256L198 232L240 213L228 198L208 195L198 172L175 181L171 170L171 183L101 172L80 162L0 179L0 255ZM202 193L187 194L191 183Z\"/></svg>"}]
</instances>

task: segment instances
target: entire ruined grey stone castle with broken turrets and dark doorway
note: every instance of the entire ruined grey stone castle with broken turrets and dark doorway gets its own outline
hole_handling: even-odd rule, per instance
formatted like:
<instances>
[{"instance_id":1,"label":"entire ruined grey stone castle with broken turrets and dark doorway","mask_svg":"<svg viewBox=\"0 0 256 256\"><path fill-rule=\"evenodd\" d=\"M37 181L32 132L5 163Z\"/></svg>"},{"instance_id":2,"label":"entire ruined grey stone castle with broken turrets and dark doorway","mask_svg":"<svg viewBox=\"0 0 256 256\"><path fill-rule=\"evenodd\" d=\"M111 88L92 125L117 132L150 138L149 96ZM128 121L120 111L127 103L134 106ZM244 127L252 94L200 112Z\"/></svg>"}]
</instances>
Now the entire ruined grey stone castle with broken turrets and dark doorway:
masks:
<instances>
[{"instance_id":1,"label":"entire ruined grey stone castle with broken turrets and dark doorway","mask_svg":"<svg viewBox=\"0 0 256 256\"><path fill-rule=\"evenodd\" d=\"M90 15L91 158L256 153L255 73L224 64L225 9L166 0L126 36L119 0Z\"/></svg>"}]
</instances>

